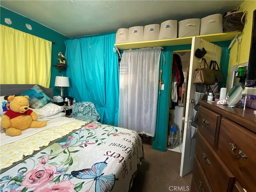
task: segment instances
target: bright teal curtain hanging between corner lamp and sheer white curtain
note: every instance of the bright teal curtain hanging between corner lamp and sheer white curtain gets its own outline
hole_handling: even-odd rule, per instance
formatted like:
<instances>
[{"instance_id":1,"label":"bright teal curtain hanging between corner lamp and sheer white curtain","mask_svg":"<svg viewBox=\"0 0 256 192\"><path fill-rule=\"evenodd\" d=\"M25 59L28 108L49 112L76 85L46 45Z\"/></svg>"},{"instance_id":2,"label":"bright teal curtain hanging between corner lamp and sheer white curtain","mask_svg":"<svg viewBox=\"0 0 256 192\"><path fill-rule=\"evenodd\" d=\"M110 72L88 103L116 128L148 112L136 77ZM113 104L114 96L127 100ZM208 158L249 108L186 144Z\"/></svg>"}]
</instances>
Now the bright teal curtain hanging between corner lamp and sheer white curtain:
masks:
<instances>
[{"instance_id":1,"label":"bright teal curtain hanging between corner lamp and sheer white curtain","mask_svg":"<svg viewBox=\"0 0 256 192\"><path fill-rule=\"evenodd\" d=\"M119 104L118 55L115 34L66 40L68 94L76 102L93 102L100 122L117 126Z\"/></svg>"}]
</instances>

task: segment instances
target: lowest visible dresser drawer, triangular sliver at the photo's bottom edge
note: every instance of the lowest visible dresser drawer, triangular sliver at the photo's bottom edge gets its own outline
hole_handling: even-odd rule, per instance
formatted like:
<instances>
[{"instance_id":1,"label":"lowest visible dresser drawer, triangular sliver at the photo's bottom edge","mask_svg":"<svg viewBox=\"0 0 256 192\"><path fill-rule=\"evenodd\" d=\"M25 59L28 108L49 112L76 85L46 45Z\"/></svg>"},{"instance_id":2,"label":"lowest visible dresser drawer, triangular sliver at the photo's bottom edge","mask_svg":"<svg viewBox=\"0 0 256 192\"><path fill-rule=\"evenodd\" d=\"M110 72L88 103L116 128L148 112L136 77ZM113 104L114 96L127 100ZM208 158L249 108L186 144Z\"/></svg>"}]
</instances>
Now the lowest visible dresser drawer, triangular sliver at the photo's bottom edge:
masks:
<instances>
[{"instance_id":1,"label":"lowest visible dresser drawer, triangular sliver at the photo's bottom edge","mask_svg":"<svg viewBox=\"0 0 256 192\"><path fill-rule=\"evenodd\" d=\"M193 166L193 178L192 182L194 182L194 188L191 187L190 192L192 191L204 191L204 192L212 192L212 188L204 174L204 170L200 165L200 162L194 156L194 166ZM193 190L192 190L193 189Z\"/></svg>"}]
</instances>

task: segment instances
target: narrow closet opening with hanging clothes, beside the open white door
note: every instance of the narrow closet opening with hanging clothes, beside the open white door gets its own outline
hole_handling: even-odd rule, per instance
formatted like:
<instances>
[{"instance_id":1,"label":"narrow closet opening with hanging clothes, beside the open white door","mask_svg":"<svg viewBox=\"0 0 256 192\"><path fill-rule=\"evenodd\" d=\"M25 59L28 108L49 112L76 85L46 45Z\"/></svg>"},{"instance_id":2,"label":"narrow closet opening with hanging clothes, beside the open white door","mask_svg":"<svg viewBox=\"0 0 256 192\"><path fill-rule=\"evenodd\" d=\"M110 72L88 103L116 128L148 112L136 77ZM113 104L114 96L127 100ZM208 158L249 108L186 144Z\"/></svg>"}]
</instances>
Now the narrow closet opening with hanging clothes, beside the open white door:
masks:
<instances>
[{"instance_id":1,"label":"narrow closet opening with hanging clothes, beside the open white door","mask_svg":"<svg viewBox=\"0 0 256 192\"><path fill-rule=\"evenodd\" d=\"M182 153L190 52L190 50L174 51L172 55L166 149L180 153Z\"/></svg>"}]
</instances>

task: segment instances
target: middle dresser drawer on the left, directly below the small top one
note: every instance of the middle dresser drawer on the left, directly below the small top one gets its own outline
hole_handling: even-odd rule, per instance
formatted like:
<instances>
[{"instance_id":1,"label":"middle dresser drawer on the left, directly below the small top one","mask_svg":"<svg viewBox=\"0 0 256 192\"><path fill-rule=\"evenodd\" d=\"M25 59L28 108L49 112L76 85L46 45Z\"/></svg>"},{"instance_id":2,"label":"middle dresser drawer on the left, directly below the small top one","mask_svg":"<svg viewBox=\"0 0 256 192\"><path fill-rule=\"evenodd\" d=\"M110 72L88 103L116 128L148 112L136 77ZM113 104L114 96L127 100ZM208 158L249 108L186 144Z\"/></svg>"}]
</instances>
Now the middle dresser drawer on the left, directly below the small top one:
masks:
<instances>
[{"instance_id":1,"label":"middle dresser drawer on the left, directly below the small top one","mask_svg":"<svg viewBox=\"0 0 256 192\"><path fill-rule=\"evenodd\" d=\"M230 192L234 186L234 175L226 168L214 149L200 132L196 137L196 157L215 192ZM194 173L194 172L193 172Z\"/></svg>"}]
</instances>

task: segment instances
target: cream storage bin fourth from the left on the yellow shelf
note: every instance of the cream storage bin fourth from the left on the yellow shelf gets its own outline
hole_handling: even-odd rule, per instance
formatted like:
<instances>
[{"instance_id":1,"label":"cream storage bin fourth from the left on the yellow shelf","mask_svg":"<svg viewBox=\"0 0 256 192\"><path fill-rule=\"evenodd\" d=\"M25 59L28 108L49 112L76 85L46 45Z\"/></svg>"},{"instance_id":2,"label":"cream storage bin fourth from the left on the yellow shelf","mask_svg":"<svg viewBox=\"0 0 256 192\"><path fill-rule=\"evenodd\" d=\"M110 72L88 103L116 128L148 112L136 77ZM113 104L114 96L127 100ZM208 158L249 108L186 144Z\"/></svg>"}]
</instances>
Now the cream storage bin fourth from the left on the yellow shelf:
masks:
<instances>
[{"instance_id":1,"label":"cream storage bin fourth from the left on the yellow shelf","mask_svg":"<svg viewBox=\"0 0 256 192\"><path fill-rule=\"evenodd\" d=\"M175 39L177 38L177 20L167 20L161 23L159 39Z\"/></svg>"}]
</instances>

